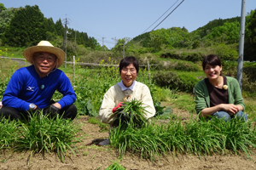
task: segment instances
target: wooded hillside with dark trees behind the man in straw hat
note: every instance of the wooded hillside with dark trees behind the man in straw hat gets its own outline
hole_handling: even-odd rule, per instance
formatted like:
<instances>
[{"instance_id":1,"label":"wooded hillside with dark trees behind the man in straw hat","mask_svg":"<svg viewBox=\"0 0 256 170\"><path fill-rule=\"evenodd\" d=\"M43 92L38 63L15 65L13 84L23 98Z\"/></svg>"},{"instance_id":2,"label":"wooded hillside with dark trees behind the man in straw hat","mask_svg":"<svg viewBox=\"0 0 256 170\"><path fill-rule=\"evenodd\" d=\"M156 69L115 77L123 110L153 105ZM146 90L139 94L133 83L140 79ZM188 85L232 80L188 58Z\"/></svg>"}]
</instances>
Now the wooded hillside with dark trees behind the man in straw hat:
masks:
<instances>
[{"instance_id":1,"label":"wooded hillside with dark trees behind the man in straw hat","mask_svg":"<svg viewBox=\"0 0 256 170\"><path fill-rule=\"evenodd\" d=\"M36 45L42 39L55 42L57 46L63 46L65 28L61 19L55 23L52 18L45 18L37 5L25 8L5 8L0 3L0 37L3 45L12 47L28 47ZM86 32L74 31L67 28L69 40L95 49L97 42L94 37L88 37Z\"/></svg>"}]
</instances>

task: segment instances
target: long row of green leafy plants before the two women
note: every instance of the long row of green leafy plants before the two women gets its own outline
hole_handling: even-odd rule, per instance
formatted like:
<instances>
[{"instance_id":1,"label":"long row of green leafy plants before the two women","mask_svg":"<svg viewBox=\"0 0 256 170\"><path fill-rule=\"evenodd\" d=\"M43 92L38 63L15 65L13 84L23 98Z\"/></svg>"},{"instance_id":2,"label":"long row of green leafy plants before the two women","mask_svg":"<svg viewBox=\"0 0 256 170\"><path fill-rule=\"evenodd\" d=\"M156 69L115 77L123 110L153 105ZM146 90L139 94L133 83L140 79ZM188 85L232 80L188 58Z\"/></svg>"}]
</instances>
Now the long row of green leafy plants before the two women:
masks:
<instances>
[{"instance_id":1,"label":"long row of green leafy plants before the two women","mask_svg":"<svg viewBox=\"0 0 256 170\"><path fill-rule=\"evenodd\" d=\"M256 147L255 132L253 121L244 122L239 118L229 122L220 119L200 122L190 119L186 123L170 120L166 124L148 124L137 129L131 126L115 128L111 131L110 144L119 149L120 156L129 151L151 161L169 154L209 156L224 154L227 150L235 154L242 151L250 158L252 148Z\"/></svg>"}]
</instances>

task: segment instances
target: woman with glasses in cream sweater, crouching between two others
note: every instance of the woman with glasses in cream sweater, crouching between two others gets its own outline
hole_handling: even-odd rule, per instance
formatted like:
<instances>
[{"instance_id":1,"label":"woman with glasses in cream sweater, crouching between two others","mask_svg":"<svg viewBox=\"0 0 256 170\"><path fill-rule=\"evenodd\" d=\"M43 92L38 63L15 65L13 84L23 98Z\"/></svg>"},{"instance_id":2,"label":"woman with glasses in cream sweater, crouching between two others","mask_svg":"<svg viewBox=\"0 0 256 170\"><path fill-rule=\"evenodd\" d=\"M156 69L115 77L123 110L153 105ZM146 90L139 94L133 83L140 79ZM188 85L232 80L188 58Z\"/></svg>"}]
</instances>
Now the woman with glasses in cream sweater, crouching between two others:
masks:
<instances>
[{"instance_id":1,"label":"woman with glasses in cream sweater, crouching between two others","mask_svg":"<svg viewBox=\"0 0 256 170\"><path fill-rule=\"evenodd\" d=\"M114 113L123 105L123 101L131 101L132 99L142 101L142 106L146 110L145 119L148 120L154 116L154 103L148 87L142 82L136 81L138 72L139 64L135 57L125 57L120 61L119 74L121 82L117 82L104 94L98 116L101 122L109 124L110 127L119 126L119 123L122 123L123 120L119 120ZM102 145L108 143L109 140Z\"/></svg>"}]
</instances>

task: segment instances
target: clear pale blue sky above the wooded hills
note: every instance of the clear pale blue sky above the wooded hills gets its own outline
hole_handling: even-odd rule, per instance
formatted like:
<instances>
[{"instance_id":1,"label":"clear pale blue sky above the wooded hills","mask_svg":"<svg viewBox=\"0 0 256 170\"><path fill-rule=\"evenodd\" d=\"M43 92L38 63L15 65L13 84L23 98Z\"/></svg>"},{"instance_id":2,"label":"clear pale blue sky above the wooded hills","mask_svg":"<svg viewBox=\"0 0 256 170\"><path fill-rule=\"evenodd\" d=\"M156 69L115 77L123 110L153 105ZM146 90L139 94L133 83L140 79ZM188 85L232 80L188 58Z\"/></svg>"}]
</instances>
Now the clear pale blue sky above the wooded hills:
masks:
<instances>
[{"instance_id":1,"label":"clear pale blue sky above the wooded hills","mask_svg":"<svg viewBox=\"0 0 256 170\"><path fill-rule=\"evenodd\" d=\"M151 31L181 2L182 0L1 1L6 8L38 5L44 17L52 17L54 21L63 20L67 16L68 27L87 32L101 45L104 37L104 45L108 48L113 48L114 38L133 38L142 34L166 13L147 30ZM241 2L241 0L184 0L156 29L184 26L189 31L195 31L211 20L241 16ZM168 8L170 9L167 11ZM256 0L246 1L247 13L255 8Z\"/></svg>"}]
</instances>

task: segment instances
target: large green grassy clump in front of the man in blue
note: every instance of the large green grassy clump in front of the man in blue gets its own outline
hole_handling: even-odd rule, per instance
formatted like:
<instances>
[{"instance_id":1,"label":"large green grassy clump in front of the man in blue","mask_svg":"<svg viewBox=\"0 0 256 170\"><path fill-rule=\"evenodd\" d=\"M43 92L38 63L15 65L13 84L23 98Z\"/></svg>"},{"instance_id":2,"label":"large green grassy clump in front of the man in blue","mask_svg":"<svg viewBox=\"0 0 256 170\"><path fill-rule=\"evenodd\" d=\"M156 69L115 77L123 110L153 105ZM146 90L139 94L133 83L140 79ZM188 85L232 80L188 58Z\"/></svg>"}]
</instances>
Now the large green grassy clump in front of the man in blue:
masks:
<instances>
[{"instance_id":1,"label":"large green grassy clump in front of the man in blue","mask_svg":"<svg viewBox=\"0 0 256 170\"><path fill-rule=\"evenodd\" d=\"M60 116L53 120L40 114L31 116L29 122L20 124L15 150L31 150L31 158L34 153L56 152L63 162L67 150L75 155L73 148L80 141L77 138L79 126L72 120L62 119Z\"/></svg>"}]
</instances>

